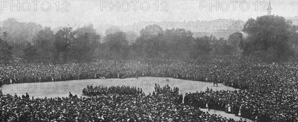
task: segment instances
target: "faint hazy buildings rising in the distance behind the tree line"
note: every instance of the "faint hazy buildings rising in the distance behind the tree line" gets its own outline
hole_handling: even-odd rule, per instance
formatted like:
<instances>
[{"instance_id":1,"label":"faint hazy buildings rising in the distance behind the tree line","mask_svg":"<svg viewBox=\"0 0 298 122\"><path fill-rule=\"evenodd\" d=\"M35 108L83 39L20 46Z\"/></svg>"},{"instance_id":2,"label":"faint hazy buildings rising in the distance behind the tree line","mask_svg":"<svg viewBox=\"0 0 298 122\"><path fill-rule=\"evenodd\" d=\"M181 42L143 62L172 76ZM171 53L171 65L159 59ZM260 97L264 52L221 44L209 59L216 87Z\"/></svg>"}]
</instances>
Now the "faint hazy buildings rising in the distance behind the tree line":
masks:
<instances>
[{"instance_id":1,"label":"faint hazy buildings rising in the distance behind the tree line","mask_svg":"<svg viewBox=\"0 0 298 122\"><path fill-rule=\"evenodd\" d=\"M217 38L227 39L229 35L234 32L241 31L245 22L241 20L232 19L216 19L212 21L189 21L189 22L170 22L170 21L140 21L139 23L134 23L133 25L120 27L123 31L134 31L137 34L140 33L147 25L157 24L162 29L176 29L182 28L185 30L190 30L194 35L193 37L202 36L215 36Z\"/></svg>"}]
</instances>

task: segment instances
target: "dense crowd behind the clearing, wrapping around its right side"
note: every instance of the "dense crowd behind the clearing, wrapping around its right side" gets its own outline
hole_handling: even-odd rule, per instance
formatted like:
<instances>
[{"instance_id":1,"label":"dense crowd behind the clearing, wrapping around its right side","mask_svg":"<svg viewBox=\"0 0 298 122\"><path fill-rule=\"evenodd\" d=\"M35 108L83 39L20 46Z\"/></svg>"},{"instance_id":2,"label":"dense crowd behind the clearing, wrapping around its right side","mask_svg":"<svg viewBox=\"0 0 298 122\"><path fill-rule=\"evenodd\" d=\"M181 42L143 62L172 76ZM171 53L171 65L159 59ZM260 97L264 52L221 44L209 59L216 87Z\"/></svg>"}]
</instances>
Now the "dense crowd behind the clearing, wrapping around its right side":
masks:
<instances>
[{"instance_id":1,"label":"dense crowd behind the clearing, wrapping around its right side","mask_svg":"<svg viewBox=\"0 0 298 122\"><path fill-rule=\"evenodd\" d=\"M3 83L135 76L220 82L241 90L191 93L186 95L185 104L230 108L233 114L240 112L241 117L261 122L298 121L298 59L279 64L259 63L249 58L216 58L210 62L147 59L55 65L14 62L0 66Z\"/></svg>"}]
</instances>

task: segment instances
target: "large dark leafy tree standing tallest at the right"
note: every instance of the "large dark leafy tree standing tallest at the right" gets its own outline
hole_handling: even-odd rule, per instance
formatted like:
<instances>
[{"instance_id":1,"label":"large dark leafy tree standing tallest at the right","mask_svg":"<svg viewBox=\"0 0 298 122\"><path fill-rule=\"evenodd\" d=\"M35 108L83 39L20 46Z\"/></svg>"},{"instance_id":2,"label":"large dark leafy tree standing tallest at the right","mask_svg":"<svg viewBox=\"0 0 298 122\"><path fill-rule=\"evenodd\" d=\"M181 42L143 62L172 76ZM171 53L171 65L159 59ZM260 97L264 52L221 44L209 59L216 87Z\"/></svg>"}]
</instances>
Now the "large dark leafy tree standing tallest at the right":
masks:
<instances>
[{"instance_id":1,"label":"large dark leafy tree standing tallest at the right","mask_svg":"<svg viewBox=\"0 0 298 122\"><path fill-rule=\"evenodd\" d=\"M293 55L289 40L291 23L281 16L261 16L249 19L243 32L248 34L248 45L243 48L244 55L254 55L266 61L287 59Z\"/></svg>"}]
</instances>

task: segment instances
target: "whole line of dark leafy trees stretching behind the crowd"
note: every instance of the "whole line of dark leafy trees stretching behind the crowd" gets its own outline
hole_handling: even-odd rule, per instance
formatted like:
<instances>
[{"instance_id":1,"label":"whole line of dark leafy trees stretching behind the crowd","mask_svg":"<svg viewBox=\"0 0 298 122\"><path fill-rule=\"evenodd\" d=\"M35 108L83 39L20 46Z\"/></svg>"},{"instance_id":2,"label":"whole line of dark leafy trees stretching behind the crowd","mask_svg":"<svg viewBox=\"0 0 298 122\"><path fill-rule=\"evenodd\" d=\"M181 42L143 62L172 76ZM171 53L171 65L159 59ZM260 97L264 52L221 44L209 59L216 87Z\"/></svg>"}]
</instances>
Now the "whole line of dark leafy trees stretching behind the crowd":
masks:
<instances>
[{"instance_id":1,"label":"whole line of dark leafy trees stretching behind the crowd","mask_svg":"<svg viewBox=\"0 0 298 122\"><path fill-rule=\"evenodd\" d=\"M117 27L96 32L93 25L51 29L9 18L0 27L1 60L73 62L94 59L191 58L216 55L253 56L265 61L297 56L298 27L281 16L247 20L242 33L228 39L193 37L189 30L153 24L140 35ZM243 35L245 33L245 35Z\"/></svg>"}]
</instances>

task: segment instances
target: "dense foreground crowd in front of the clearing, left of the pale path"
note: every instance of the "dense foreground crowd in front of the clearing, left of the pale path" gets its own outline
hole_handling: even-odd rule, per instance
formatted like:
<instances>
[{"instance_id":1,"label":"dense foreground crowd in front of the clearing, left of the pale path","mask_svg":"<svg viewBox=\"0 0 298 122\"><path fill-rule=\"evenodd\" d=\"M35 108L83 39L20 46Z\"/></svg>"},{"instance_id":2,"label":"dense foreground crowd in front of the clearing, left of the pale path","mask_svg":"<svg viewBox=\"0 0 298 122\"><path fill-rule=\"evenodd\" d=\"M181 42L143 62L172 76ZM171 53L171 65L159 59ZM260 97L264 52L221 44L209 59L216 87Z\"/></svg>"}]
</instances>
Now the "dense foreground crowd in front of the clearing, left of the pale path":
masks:
<instances>
[{"instance_id":1,"label":"dense foreground crowd in front of the clearing, left of the pale path","mask_svg":"<svg viewBox=\"0 0 298 122\"><path fill-rule=\"evenodd\" d=\"M88 85L89 89L95 89ZM98 89L103 87L97 87ZM101 90L126 86L112 86ZM0 120L3 122L240 122L203 112L176 102L174 91L164 86L162 95L98 94L95 97L20 98L9 94L0 97ZM162 89L163 89L162 88ZM136 91L135 91L136 92ZM115 93L115 92L111 92ZM181 99L182 101L182 99ZM245 121L244 121L245 122Z\"/></svg>"}]
</instances>

